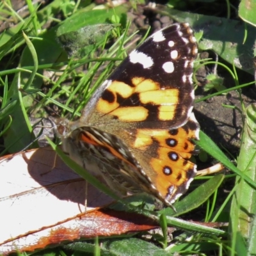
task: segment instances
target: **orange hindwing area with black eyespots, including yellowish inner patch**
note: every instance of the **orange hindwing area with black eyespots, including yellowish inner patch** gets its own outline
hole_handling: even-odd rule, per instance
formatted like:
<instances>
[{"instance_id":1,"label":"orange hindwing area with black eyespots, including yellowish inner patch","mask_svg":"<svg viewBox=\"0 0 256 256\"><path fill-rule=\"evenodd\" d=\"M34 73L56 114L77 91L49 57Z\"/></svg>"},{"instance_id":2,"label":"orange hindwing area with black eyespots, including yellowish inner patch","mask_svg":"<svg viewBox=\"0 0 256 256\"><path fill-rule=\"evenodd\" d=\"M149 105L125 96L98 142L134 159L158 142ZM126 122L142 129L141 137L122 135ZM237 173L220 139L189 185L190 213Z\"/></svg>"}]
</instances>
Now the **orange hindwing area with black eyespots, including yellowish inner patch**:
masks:
<instances>
[{"instance_id":1,"label":"orange hindwing area with black eyespots, including yellowish inner patch","mask_svg":"<svg viewBox=\"0 0 256 256\"><path fill-rule=\"evenodd\" d=\"M187 124L178 129L137 130L132 147L143 152L155 152L149 163L154 173L150 179L159 193L159 199L164 198L167 204L173 204L196 175L196 165L189 158L195 154L192 140L198 140L198 131L193 115Z\"/></svg>"}]
</instances>

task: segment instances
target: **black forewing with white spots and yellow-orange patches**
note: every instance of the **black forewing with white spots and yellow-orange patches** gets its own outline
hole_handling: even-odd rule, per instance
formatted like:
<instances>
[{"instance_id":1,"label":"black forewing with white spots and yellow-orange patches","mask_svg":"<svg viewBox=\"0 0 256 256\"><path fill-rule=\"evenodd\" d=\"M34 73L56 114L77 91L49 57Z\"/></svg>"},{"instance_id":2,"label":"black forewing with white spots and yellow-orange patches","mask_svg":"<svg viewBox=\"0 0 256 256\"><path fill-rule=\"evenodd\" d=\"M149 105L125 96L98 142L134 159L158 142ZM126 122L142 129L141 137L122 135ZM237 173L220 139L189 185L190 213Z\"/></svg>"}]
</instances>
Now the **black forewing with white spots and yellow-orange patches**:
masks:
<instances>
[{"instance_id":1,"label":"black forewing with white spots and yellow-orange patches","mask_svg":"<svg viewBox=\"0 0 256 256\"><path fill-rule=\"evenodd\" d=\"M83 111L84 122L100 127L105 122L115 125L118 118L152 129L184 124L193 105L191 76L196 53L188 24L158 31L132 51L102 84L97 99L93 97L93 104L89 102Z\"/></svg>"}]
</instances>

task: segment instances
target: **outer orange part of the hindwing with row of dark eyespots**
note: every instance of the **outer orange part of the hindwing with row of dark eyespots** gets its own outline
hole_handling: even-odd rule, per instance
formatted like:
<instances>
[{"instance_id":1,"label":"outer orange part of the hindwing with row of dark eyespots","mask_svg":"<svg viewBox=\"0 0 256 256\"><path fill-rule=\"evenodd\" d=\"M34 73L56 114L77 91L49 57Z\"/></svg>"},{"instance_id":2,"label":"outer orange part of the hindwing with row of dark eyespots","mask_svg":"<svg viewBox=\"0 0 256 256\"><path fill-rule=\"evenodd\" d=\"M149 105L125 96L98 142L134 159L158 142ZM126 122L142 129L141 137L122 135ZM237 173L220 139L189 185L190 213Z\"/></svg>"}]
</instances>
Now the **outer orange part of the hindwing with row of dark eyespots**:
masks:
<instances>
[{"instance_id":1,"label":"outer orange part of the hindwing with row of dark eyespots","mask_svg":"<svg viewBox=\"0 0 256 256\"><path fill-rule=\"evenodd\" d=\"M156 171L157 191L173 204L189 187L196 175L196 165L188 159L195 154L195 143L198 140L199 127L192 115L188 123L179 129L169 131L169 136L158 136L158 156L150 161ZM179 139L179 140L178 140Z\"/></svg>"}]
</instances>

